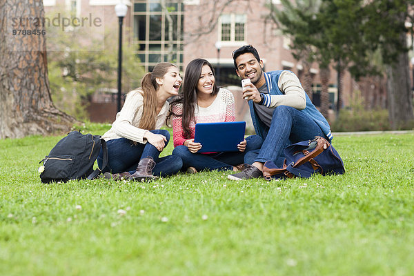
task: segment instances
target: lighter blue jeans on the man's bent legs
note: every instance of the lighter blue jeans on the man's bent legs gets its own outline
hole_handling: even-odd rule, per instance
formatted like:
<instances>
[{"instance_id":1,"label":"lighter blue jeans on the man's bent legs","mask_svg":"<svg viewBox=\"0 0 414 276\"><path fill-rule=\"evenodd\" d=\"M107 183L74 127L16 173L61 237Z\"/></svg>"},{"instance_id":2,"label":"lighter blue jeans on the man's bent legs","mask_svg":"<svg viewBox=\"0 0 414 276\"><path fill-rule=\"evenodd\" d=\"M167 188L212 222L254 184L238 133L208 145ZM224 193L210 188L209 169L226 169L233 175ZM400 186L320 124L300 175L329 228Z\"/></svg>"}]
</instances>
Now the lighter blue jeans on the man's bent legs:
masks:
<instances>
[{"instance_id":1,"label":"lighter blue jeans on the man's bent legs","mask_svg":"<svg viewBox=\"0 0 414 276\"><path fill-rule=\"evenodd\" d=\"M283 150L290 144L299 141L312 140L315 136L324 137L329 141L322 129L311 117L290 106L277 106L273 111L270 128L264 132L262 148L250 152L249 158L255 157L255 162L273 161L282 166Z\"/></svg>"}]
</instances>

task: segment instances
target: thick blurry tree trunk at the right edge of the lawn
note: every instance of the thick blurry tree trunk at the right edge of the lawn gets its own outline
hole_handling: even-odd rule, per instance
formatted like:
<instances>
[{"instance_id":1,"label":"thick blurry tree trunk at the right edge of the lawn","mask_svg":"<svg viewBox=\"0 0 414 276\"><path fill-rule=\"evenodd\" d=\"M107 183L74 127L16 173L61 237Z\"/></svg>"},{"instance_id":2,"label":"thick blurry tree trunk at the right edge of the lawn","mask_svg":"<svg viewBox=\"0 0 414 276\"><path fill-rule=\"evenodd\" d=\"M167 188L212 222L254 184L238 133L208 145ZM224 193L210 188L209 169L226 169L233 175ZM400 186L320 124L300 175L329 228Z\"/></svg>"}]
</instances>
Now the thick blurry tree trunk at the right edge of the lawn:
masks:
<instances>
[{"instance_id":1,"label":"thick blurry tree trunk at the right edge of the lawn","mask_svg":"<svg viewBox=\"0 0 414 276\"><path fill-rule=\"evenodd\" d=\"M406 43L405 34L400 39ZM395 63L386 67L388 115L391 128L412 128L414 124L413 92L411 90L408 53L398 55Z\"/></svg>"}]
</instances>

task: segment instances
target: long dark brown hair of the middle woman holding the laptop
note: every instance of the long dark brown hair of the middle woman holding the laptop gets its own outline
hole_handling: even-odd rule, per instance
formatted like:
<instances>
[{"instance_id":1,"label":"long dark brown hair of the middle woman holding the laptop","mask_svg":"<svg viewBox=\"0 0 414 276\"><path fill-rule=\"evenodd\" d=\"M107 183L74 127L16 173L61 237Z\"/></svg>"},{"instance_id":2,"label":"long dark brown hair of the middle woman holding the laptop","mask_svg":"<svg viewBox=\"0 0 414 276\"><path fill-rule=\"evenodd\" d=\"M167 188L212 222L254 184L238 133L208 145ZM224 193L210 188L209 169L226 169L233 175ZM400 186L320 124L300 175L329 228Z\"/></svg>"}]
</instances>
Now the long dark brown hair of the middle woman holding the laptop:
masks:
<instances>
[{"instance_id":1,"label":"long dark brown hair of the middle woman holding the laptop","mask_svg":"<svg viewBox=\"0 0 414 276\"><path fill-rule=\"evenodd\" d=\"M181 95L171 103L171 106L182 103L183 104L183 113L182 114L175 114L170 108L170 115L181 116L183 117L182 125L184 129L184 136L186 138L190 138L191 136L191 128L190 123L194 121L194 111L195 107L197 106L197 84L200 79L201 70L203 66L207 65L210 67L211 72L213 72L213 76L215 77L215 72L213 66L211 66L210 62L206 61L206 59L193 59L188 63L186 68L186 73L184 74L184 84L183 90ZM211 95L217 95L219 92L219 87L217 86L216 82L214 83L213 93Z\"/></svg>"}]
</instances>

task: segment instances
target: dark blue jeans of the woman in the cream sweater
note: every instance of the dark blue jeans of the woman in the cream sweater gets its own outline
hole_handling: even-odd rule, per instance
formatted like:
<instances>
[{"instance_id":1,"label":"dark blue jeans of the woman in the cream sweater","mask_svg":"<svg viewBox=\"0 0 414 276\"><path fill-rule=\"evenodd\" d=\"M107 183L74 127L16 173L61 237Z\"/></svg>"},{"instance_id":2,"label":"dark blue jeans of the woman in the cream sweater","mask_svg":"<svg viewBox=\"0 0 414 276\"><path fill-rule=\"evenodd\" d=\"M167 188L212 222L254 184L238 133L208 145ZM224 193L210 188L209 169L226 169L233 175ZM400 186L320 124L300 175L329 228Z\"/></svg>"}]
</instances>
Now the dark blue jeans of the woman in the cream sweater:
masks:
<instances>
[{"instance_id":1,"label":"dark blue jeans of the woman in the cream sweater","mask_svg":"<svg viewBox=\"0 0 414 276\"><path fill-rule=\"evenodd\" d=\"M152 133L164 135L167 138L166 146L170 141L170 133L167 130L150 130ZM155 167L152 169L152 175L166 177L178 172L183 163L178 156L168 155L159 158L159 152L155 146L150 143L141 144L133 143L130 139L119 138L106 142L108 146L108 166L102 172L130 172L137 170L139 160L152 157L155 161ZM103 152L99 153L98 166L102 166ZM102 169L102 168L101 168Z\"/></svg>"}]
</instances>

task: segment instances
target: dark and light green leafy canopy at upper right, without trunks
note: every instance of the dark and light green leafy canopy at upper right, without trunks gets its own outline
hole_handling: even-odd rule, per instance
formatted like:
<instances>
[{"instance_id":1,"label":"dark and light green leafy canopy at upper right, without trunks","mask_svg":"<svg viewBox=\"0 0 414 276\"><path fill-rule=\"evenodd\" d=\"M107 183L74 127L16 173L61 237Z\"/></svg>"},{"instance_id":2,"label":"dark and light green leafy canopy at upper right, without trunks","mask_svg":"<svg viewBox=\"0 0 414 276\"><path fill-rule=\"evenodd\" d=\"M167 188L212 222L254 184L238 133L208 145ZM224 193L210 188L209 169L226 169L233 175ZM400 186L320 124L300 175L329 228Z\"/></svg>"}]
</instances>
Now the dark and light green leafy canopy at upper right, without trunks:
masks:
<instances>
[{"instance_id":1,"label":"dark and light green leafy canopy at upper right, without trunks","mask_svg":"<svg viewBox=\"0 0 414 276\"><path fill-rule=\"evenodd\" d=\"M372 59L375 52L380 51L382 61L389 64L407 50L399 39L407 29L397 14L407 10L408 2L413 1L282 0L283 8L272 5L270 12L284 34L292 37L294 57L312 49L309 61L322 67L340 61L342 69L358 79L380 73Z\"/></svg>"}]
</instances>

